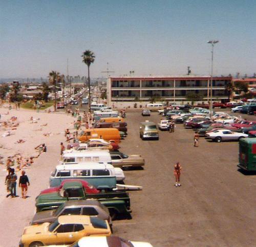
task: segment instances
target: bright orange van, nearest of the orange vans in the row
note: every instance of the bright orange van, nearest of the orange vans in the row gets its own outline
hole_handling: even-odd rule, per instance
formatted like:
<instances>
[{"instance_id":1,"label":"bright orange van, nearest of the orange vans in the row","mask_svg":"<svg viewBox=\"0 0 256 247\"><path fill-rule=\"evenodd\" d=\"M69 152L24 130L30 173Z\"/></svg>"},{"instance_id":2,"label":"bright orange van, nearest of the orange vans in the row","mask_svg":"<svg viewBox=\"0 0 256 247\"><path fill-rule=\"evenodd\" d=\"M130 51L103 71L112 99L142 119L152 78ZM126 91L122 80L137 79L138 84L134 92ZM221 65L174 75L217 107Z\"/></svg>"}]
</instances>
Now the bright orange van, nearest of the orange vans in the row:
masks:
<instances>
[{"instance_id":1,"label":"bright orange van, nearest of the orange vans in the row","mask_svg":"<svg viewBox=\"0 0 256 247\"><path fill-rule=\"evenodd\" d=\"M79 141L88 141L91 138L101 138L106 141L114 140L119 143L121 136L118 129L115 128L99 128L99 129L86 129L81 131L78 137Z\"/></svg>"}]
</instances>

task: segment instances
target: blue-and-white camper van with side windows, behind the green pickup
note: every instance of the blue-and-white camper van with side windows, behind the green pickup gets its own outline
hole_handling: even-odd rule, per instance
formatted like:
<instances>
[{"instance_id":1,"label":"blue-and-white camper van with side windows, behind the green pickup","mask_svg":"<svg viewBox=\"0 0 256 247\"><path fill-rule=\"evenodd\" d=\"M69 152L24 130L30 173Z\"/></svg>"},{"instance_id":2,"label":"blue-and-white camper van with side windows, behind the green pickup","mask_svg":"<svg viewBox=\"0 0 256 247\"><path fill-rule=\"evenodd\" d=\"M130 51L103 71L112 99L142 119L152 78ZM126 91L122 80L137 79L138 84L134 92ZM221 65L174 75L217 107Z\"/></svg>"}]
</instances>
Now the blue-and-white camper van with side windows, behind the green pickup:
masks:
<instances>
[{"instance_id":1,"label":"blue-and-white camper van with side windows, behind the green pickup","mask_svg":"<svg viewBox=\"0 0 256 247\"><path fill-rule=\"evenodd\" d=\"M120 169L120 168L119 168ZM116 169L108 163L69 163L57 165L50 177L50 187L56 187L66 179L85 180L95 188L116 188Z\"/></svg>"}]
</instances>

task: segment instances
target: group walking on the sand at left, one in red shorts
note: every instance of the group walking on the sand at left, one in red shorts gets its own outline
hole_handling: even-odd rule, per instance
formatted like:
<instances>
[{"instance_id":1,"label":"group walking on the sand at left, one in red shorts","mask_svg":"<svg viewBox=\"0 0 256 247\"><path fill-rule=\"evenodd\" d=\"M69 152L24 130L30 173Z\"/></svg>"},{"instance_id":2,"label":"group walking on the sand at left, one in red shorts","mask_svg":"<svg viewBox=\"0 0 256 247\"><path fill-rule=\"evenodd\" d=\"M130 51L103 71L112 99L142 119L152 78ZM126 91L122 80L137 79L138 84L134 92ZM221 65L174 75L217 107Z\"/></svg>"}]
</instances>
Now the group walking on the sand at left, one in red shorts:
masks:
<instances>
[{"instance_id":1,"label":"group walking on the sand at left, one in red shorts","mask_svg":"<svg viewBox=\"0 0 256 247\"><path fill-rule=\"evenodd\" d=\"M16 197L16 185L17 185L17 175L15 174L15 169L9 167L7 169L7 175L5 178L5 184L6 184L6 189L7 189L7 195L6 197ZM28 186L30 185L29 183L29 178L26 175L26 171L22 171L22 175L19 177L18 181L18 186L22 190L22 198L26 199L27 198L27 192L28 192Z\"/></svg>"}]
</instances>

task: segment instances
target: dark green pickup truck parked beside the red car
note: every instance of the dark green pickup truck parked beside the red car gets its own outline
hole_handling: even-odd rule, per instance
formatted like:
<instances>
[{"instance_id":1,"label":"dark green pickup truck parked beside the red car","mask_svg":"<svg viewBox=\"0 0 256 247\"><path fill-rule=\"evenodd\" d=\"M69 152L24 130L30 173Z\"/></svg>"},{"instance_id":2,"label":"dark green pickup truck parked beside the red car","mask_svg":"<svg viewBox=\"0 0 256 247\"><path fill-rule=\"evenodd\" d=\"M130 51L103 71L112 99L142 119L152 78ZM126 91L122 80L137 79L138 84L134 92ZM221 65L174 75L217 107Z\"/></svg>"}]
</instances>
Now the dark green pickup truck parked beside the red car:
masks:
<instances>
[{"instance_id":1,"label":"dark green pickup truck parked beside the red car","mask_svg":"<svg viewBox=\"0 0 256 247\"><path fill-rule=\"evenodd\" d=\"M112 219L115 219L117 215L132 218L129 193L111 191L87 194L79 181L65 183L57 192L38 195L35 203L36 212L56 209L66 201L88 199L96 199L107 207Z\"/></svg>"}]
</instances>

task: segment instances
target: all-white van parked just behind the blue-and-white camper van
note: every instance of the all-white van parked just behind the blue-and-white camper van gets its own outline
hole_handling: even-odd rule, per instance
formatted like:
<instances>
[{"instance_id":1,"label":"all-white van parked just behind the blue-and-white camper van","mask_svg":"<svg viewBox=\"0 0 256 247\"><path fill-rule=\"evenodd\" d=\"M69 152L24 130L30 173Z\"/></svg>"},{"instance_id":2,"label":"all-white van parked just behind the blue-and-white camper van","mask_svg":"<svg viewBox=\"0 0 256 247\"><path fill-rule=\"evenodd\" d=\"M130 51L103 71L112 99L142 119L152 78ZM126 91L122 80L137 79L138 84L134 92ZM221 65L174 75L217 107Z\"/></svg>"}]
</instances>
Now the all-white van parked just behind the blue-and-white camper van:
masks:
<instances>
[{"instance_id":1,"label":"all-white van parked just behind the blue-and-white camper van","mask_svg":"<svg viewBox=\"0 0 256 247\"><path fill-rule=\"evenodd\" d=\"M97 162L111 163L109 151L73 151L62 155L62 163L81 163L81 162Z\"/></svg>"}]
</instances>

